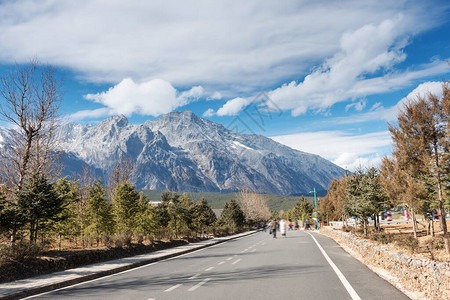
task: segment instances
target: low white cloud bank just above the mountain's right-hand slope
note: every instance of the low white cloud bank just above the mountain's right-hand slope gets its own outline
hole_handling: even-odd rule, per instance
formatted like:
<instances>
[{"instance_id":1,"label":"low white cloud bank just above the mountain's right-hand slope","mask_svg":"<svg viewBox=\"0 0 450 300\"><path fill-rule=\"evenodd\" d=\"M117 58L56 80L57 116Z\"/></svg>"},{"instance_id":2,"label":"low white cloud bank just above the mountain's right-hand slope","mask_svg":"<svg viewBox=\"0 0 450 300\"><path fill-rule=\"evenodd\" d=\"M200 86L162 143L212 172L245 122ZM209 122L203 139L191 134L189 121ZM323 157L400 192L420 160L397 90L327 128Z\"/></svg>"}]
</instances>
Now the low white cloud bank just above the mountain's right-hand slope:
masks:
<instances>
[{"instance_id":1,"label":"low white cloud bank just above the mountain's right-hand slope","mask_svg":"<svg viewBox=\"0 0 450 300\"><path fill-rule=\"evenodd\" d=\"M359 166L378 166L381 157L391 149L388 131L362 135L351 135L342 131L318 131L271 138L293 149L318 154L351 171Z\"/></svg>"}]
</instances>

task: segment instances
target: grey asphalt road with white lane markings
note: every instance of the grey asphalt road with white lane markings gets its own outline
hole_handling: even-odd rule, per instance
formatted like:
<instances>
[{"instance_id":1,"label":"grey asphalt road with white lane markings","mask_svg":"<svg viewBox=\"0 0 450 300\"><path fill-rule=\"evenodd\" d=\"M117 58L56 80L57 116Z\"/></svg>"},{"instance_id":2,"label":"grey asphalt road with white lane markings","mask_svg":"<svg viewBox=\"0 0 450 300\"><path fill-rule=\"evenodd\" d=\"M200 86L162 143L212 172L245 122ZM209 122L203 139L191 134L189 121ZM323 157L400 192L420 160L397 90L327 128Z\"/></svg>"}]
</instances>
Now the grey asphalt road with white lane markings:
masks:
<instances>
[{"instance_id":1,"label":"grey asphalt road with white lane markings","mask_svg":"<svg viewBox=\"0 0 450 300\"><path fill-rule=\"evenodd\" d=\"M276 239L259 232L31 298L409 299L333 240L309 231Z\"/></svg>"}]
</instances>

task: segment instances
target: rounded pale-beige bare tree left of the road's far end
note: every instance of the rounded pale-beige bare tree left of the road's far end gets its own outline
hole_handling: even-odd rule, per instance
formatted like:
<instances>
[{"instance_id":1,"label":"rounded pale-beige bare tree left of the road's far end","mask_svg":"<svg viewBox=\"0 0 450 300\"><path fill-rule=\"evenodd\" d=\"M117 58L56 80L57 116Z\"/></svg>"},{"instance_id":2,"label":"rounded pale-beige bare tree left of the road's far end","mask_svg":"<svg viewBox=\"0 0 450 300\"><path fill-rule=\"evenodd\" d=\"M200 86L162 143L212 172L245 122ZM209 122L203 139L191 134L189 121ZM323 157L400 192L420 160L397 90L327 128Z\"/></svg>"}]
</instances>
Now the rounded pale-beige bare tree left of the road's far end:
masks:
<instances>
[{"instance_id":1,"label":"rounded pale-beige bare tree left of the road's far end","mask_svg":"<svg viewBox=\"0 0 450 300\"><path fill-rule=\"evenodd\" d=\"M264 195L243 189L238 194L238 200L241 203L242 211L247 221L265 221L270 219L271 213Z\"/></svg>"}]
</instances>

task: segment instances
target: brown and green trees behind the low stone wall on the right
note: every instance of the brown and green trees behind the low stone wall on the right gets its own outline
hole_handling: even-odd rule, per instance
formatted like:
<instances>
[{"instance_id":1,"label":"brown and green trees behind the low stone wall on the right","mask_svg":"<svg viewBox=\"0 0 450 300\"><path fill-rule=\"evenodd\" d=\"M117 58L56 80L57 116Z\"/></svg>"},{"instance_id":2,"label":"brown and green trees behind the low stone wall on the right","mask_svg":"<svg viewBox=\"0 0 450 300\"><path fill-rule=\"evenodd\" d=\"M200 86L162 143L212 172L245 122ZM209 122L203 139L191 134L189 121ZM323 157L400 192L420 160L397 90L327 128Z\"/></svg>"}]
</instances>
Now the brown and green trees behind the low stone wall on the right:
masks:
<instances>
[{"instance_id":1,"label":"brown and green trees behind the low stone wall on the right","mask_svg":"<svg viewBox=\"0 0 450 300\"><path fill-rule=\"evenodd\" d=\"M440 97L428 94L409 99L398 121L389 124L393 154L383 158L380 168L360 169L331 182L328 194L319 203L322 221L342 221L344 230L429 254L432 259L439 256L448 260L449 81L442 86ZM410 223L381 228L380 219L394 208L401 208L411 218ZM433 210L440 212L438 224L433 221ZM360 229L349 227L349 219L360 221Z\"/></svg>"}]
</instances>

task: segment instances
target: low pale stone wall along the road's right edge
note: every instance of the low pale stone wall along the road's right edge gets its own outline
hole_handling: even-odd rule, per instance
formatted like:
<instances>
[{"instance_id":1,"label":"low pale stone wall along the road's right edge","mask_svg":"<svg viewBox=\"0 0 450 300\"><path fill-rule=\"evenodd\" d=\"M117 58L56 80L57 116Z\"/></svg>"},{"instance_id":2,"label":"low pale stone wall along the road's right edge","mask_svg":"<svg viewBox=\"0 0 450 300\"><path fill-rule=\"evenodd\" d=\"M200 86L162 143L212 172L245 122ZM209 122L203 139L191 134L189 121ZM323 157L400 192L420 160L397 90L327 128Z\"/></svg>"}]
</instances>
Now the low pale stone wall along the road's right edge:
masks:
<instances>
[{"instance_id":1,"label":"low pale stone wall along the road's right edge","mask_svg":"<svg viewBox=\"0 0 450 300\"><path fill-rule=\"evenodd\" d=\"M395 278L402 290L413 299L450 299L450 263L411 257L389 246L360 239L340 230L324 228L320 233L341 244L350 254L356 254L369 267L384 269ZM354 252L354 253L352 253ZM359 257L358 257L359 256ZM377 272L378 273L378 272ZM386 276L379 274L385 279ZM391 282L394 285L396 282ZM398 287L398 286L397 286ZM420 295L419 295L420 294Z\"/></svg>"}]
</instances>

